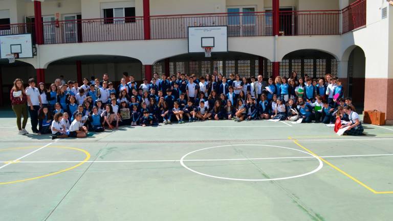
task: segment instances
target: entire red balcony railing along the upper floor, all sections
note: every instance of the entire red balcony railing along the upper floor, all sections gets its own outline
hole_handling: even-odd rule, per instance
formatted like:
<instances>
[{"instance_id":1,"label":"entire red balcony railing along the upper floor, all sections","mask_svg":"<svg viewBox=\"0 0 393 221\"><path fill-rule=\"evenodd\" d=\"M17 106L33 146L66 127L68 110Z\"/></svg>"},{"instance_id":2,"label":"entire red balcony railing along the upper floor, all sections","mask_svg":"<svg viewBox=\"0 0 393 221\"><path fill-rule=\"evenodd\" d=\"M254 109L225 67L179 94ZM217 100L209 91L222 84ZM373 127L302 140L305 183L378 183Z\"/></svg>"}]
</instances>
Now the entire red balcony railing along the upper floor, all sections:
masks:
<instances>
[{"instance_id":1,"label":"entire red balcony railing along the upper floor, all sections","mask_svg":"<svg viewBox=\"0 0 393 221\"><path fill-rule=\"evenodd\" d=\"M339 24L342 15L342 32ZM343 10L280 11L280 35L338 35L365 26L366 0ZM272 36L271 11L243 13L154 15L151 39L187 38L190 26L228 26L229 37ZM144 17L95 18L43 22L43 42L56 43L143 40ZM0 34L32 33L34 24L0 26Z\"/></svg>"}]
</instances>

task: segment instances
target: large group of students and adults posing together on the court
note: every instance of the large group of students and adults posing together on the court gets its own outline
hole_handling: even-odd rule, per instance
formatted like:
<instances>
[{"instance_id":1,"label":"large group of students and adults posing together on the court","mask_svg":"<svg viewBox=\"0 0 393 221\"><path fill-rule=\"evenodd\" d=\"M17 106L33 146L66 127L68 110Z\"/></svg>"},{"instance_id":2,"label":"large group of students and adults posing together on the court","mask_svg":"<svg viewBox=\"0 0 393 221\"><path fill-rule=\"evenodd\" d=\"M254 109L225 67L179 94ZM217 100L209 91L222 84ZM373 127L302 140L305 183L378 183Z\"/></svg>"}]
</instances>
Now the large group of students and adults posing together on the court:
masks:
<instances>
[{"instance_id":1,"label":"large group of students and adults posing together on the court","mask_svg":"<svg viewBox=\"0 0 393 221\"><path fill-rule=\"evenodd\" d=\"M343 98L341 81L330 74L318 80L307 76L305 80L298 78L296 72L289 79L277 76L266 82L259 75L250 80L233 74L227 79L216 71L199 79L182 73L168 79L163 74L159 79L155 73L150 82L143 79L138 85L133 76L123 73L116 88L104 75L101 81L85 78L81 86L68 81L51 84L49 89L43 83L35 87L31 78L25 90L23 81L15 79L10 97L19 134L28 134L27 103L33 132L51 133L53 139L86 137L89 131L100 132L123 125L170 124L173 120L185 123L185 119L188 122L302 119L302 123L329 124L338 117L350 122L348 126L356 124L347 134L359 134L361 124L356 121L359 117L351 98ZM352 112L347 113L348 108ZM22 115L23 125L20 124ZM350 132L353 129L357 131Z\"/></svg>"}]
</instances>

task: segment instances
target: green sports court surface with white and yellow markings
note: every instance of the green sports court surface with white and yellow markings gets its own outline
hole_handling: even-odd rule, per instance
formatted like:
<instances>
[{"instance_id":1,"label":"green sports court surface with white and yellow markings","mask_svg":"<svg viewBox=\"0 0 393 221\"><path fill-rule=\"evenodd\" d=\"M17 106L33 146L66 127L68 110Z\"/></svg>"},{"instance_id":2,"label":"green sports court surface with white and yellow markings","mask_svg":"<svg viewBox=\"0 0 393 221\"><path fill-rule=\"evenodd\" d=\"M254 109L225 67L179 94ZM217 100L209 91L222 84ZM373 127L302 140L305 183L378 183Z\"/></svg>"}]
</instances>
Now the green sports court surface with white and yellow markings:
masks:
<instances>
[{"instance_id":1,"label":"green sports court surface with white and yellow markings","mask_svg":"<svg viewBox=\"0 0 393 221\"><path fill-rule=\"evenodd\" d=\"M1 220L393 216L393 126L339 137L324 124L227 120L51 140L0 116Z\"/></svg>"}]
</instances>

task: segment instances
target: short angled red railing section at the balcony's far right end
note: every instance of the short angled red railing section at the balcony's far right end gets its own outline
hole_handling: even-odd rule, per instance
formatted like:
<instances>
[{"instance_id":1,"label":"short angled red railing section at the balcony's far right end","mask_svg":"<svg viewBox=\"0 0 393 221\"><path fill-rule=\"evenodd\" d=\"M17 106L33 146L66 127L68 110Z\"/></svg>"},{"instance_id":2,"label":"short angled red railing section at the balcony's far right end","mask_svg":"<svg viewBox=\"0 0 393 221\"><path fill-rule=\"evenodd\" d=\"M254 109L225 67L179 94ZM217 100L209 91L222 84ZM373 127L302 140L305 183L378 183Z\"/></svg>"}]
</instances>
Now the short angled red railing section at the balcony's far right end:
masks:
<instances>
[{"instance_id":1,"label":"short angled red railing section at the balcony's far right end","mask_svg":"<svg viewBox=\"0 0 393 221\"><path fill-rule=\"evenodd\" d=\"M342 33L366 25L366 0L359 0L342 9Z\"/></svg>"}]
</instances>

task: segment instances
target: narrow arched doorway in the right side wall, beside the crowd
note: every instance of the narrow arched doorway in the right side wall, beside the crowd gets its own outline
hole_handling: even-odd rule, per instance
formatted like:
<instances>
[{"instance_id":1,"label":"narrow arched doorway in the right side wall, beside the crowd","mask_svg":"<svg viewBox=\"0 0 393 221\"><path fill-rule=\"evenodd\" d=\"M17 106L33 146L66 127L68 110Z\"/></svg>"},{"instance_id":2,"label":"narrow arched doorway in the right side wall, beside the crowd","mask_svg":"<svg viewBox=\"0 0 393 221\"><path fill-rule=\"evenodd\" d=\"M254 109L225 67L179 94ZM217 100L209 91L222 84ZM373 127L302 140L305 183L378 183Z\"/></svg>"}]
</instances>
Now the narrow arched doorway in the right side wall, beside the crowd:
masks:
<instances>
[{"instance_id":1,"label":"narrow arched doorway in the right side wall, beside the crowd","mask_svg":"<svg viewBox=\"0 0 393 221\"><path fill-rule=\"evenodd\" d=\"M352 98L356 106L364 106L364 82L365 82L364 51L356 46L348 57L348 78L346 96Z\"/></svg>"}]
</instances>

